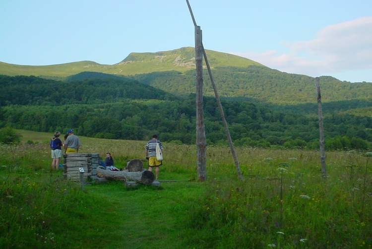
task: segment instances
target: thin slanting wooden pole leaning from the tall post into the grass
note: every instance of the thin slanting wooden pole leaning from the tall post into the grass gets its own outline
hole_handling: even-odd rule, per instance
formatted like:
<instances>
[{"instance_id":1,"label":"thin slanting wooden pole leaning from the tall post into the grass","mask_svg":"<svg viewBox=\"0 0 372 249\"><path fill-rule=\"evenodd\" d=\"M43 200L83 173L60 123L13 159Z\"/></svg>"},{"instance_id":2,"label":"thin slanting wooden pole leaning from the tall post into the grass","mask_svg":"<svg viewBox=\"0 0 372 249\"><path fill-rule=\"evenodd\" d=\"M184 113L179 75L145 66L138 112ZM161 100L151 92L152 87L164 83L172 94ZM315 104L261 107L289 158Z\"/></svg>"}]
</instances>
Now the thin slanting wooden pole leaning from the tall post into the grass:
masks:
<instances>
[{"instance_id":1,"label":"thin slanting wooden pole leaning from the tall post into the grass","mask_svg":"<svg viewBox=\"0 0 372 249\"><path fill-rule=\"evenodd\" d=\"M241 180L243 180L242 172L240 170L240 166L239 166L239 162L238 162L238 157L237 157L237 154L235 153L235 148L234 148L233 140L231 140L231 135L230 135L229 127L227 126L227 122L226 122L224 110L222 109L222 105L221 105L221 100L220 100L220 97L219 97L218 92L217 92L216 84L214 83L214 78L213 78L213 75L212 75L212 70L210 69L210 66L209 66L209 62L208 62L208 59L207 59L207 54L205 53L203 44L201 44L201 47L203 49L204 60L205 60L205 64L207 65L207 69L208 69L208 73L209 73L209 78L210 78L210 81L212 82L212 87L213 87L214 95L216 96L218 110L220 111L222 123L224 124L224 127L225 127L226 136L227 136L227 139L229 140L230 150L231 150L231 153L232 153L232 155L234 157L234 163L235 163L235 167L237 169L238 177Z\"/></svg>"}]
</instances>

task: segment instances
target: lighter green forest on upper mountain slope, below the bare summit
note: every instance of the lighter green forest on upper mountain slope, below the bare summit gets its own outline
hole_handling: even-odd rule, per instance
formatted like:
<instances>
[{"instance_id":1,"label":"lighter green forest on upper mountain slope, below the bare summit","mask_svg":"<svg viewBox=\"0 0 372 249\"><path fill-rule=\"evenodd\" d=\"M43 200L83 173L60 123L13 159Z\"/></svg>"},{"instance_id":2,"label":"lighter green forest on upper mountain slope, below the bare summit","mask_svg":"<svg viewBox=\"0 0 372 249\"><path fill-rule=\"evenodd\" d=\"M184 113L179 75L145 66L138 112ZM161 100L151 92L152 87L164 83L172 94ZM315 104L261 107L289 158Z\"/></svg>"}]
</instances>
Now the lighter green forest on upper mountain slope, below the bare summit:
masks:
<instances>
[{"instance_id":1,"label":"lighter green forest on upper mountain slope, below the bare summit","mask_svg":"<svg viewBox=\"0 0 372 249\"><path fill-rule=\"evenodd\" d=\"M203 71L204 95L214 96L208 71ZM259 104L294 105L316 102L315 79L307 75L280 72L265 66L215 67L212 69L221 98L254 101ZM177 96L195 91L195 70L136 74L141 83L154 86ZM372 100L372 84L351 83L331 76L319 77L323 102L352 99Z\"/></svg>"}]
</instances>

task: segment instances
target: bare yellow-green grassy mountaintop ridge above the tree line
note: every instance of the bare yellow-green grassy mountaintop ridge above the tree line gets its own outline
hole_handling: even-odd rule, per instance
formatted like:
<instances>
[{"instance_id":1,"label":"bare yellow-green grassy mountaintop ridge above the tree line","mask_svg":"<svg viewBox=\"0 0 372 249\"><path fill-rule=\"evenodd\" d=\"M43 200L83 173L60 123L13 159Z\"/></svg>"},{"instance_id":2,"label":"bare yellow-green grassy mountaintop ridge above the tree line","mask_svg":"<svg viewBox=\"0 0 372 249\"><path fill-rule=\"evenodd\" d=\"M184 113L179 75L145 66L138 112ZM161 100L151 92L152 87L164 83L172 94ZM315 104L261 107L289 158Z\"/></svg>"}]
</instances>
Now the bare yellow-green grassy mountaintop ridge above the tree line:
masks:
<instances>
[{"instance_id":1,"label":"bare yellow-green grassy mountaintop ridge above the tree line","mask_svg":"<svg viewBox=\"0 0 372 249\"><path fill-rule=\"evenodd\" d=\"M211 66L241 66L261 65L246 58L235 55L206 50ZM0 74L34 75L47 77L67 77L83 71L103 72L117 75L134 75L156 71L177 70L185 72L195 68L194 48L187 47L172 51L157 53L130 53L122 62L114 65L83 61L57 65L15 65L0 62Z\"/></svg>"}]
</instances>

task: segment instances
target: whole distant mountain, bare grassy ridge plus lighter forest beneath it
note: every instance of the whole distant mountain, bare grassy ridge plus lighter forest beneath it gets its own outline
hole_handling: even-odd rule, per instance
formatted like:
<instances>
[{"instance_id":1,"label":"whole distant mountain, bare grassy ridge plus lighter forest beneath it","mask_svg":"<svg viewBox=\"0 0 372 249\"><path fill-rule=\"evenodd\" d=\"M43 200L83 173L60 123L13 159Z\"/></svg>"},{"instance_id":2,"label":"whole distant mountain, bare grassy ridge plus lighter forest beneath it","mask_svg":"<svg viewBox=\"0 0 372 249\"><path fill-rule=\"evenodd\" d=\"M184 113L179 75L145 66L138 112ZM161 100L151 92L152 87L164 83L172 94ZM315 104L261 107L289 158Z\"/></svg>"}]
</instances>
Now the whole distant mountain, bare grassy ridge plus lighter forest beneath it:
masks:
<instances>
[{"instance_id":1,"label":"whole distant mountain, bare grassy ridge plus lighter forest beneath it","mask_svg":"<svg viewBox=\"0 0 372 249\"><path fill-rule=\"evenodd\" d=\"M210 50L206 53L221 98L281 106L316 104L313 77L281 72L235 55ZM204 69L203 73L204 95L214 96L208 71ZM0 74L35 75L63 81L116 75L181 97L195 92L194 48L191 47L156 53L130 53L123 61L113 65L90 61L46 66L0 62ZM322 102L372 102L372 83L369 82L351 83L331 76L321 76L320 85Z\"/></svg>"}]
</instances>

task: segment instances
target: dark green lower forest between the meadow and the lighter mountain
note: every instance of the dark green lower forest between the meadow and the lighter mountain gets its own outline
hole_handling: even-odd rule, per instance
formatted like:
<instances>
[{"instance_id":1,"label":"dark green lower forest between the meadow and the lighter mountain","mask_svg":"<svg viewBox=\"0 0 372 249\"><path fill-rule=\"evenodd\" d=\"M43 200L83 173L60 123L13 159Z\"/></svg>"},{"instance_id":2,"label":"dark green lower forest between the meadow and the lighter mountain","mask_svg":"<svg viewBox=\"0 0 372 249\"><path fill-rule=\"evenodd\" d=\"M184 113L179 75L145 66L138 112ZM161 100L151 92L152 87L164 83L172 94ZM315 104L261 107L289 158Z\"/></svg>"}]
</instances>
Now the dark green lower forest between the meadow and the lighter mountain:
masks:
<instances>
[{"instance_id":1,"label":"dark green lower forest between the meadow and the lighter mountain","mask_svg":"<svg viewBox=\"0 0 372 249\"><path fill-rule=\"evenodd\" d=\"M354 102L349 105L365 105ZM73 128L81 136L128 140L147 140L157 133L164 142L195 143L195 94L178 98L124 77L62 82L0 75L0 104L0 127L51 133ZM242 100L222 99L222 106L236 146L319 147L315 105L306 114ZM371 147L371 117L329 113L324 115L327 149ZM204 119L207 143L227 144L213 97L204 97Z\"/></svg>"}]
</instances>

